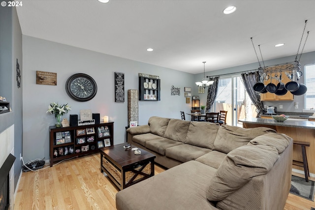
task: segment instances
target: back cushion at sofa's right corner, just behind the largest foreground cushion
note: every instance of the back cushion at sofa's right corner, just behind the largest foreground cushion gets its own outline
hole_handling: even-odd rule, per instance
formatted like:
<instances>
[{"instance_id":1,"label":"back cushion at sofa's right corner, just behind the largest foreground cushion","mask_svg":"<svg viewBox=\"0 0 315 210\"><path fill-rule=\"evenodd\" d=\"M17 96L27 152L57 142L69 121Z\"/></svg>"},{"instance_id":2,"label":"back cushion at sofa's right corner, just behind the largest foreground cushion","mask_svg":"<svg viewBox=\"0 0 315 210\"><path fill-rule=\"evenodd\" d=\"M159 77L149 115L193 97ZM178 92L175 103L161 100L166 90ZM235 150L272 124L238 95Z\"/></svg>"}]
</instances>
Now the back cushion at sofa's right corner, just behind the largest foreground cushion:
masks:
<instances>
[{"instance_id":1,"label":"back cushion at sofa's right corner, just behind the largest foreground cushion","mask_svg":"<svg viewBox=\"0 0 315 210\"><path fill-rule=\"evenodd\" d=\"M278 153L281 154L290 144L291 139L291 137L288 137L283 133L268 133L257 136L251 140L249 144L273 146L278 150Z\"/></svg>"}]
</instances>

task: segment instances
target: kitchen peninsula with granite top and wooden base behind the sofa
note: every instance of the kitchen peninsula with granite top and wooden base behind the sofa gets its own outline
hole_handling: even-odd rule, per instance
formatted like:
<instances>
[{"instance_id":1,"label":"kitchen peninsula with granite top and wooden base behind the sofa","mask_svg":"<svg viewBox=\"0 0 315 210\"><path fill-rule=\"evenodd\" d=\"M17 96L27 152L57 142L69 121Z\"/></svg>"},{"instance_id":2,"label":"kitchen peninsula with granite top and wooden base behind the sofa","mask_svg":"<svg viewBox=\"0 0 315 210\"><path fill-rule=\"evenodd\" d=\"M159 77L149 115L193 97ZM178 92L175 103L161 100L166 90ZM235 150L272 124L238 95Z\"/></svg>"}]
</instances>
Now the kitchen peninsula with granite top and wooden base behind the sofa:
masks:
<instances>
[{"instance_id":1,"label":"kitchen peninsula with granite top and wooden base behind the sofa","mask_svg":"<svg viewBox=\"0 0 315 210\"><path fill-rule=\"evenodd\" d=\"M309 162L310 173L315 175L315 121L299 121L299 120L285 120L284 122L277 122L274 119L265 118L250 118L239 120L243 122L244 128L254 127L269 127L276 130L278 133L284 133L295 141L309 142L310 147L306 147L307 159ZM301 147L293 147L293 159L302 161ZM304 174L304 168L292 166L293 169L298 169Z\"/></svg>"}]
</instances>

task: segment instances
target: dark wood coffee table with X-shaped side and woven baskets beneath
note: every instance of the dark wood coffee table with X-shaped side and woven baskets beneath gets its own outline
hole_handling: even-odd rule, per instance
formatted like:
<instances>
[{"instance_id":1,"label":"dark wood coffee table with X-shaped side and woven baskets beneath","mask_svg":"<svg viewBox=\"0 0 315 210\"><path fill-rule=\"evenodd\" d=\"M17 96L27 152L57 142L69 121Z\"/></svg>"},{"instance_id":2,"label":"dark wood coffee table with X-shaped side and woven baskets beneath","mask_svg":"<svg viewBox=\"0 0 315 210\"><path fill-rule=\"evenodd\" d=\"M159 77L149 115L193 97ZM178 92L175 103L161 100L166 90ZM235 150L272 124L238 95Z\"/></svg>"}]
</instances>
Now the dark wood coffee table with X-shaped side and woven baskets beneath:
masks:
<instances>
[{"instance_id":1,"label":"dark wood coffee table with X-shaped side and woven baskets beneath","mask_svg":"<svg viewBox=\"0 0 315 210\"><path fill-rule=\"evenodd\" d=\"M135 146L125 150L124 145L100 149L100 172L105 172L119 189L154 176L156 155L142 149L139 149L141 154L134 154L131 149Z\"/></svg>"}]
</instances>

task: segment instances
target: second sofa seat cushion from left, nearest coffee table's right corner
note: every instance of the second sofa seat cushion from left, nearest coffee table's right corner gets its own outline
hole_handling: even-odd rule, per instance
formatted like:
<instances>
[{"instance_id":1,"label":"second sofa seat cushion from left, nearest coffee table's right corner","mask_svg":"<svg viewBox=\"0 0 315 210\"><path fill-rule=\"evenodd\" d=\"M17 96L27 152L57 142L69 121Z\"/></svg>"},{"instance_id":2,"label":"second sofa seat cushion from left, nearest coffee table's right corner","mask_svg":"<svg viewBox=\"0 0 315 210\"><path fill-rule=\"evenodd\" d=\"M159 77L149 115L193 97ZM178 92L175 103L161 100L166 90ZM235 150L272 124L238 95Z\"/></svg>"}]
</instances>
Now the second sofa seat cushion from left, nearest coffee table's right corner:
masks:
<instances>
[{"instance_id":1,"label":"second sofa seat cushion from left, nearest coffee table's right corner","mask_svg":"<svg viewBox=\"0 0 315 210\"><path fill-rule=\"evenodd\" d=\"M162 138L146 142L146 148L148 148L149 150L156 151L161 155L165 155L165 150L167 148L182 144L184 143Z\"/></svg>"}]
</instances>

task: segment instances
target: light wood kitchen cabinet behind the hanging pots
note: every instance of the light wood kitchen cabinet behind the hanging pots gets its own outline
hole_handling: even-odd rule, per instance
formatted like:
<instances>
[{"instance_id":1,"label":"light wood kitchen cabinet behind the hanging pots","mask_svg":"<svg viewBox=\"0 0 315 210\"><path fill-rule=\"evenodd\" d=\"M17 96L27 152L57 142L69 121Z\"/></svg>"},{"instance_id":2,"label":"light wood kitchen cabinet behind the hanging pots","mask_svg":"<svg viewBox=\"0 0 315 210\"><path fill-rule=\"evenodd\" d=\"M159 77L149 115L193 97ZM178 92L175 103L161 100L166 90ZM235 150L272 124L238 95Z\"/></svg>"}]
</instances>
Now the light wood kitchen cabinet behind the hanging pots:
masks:
<instances>
[{"instance_id":1,"label":"light wood kitchen cabinet behind the hanging pots","mask_svg":"<svg viewBox=\"0 0 315 210\"><path fill-rule=\"evenodd\" d=\"M275 77L275 75L280 75L280 73L272 73L271 76ZM282 75L282 82L284 83L284 85L288 82L290 82L291 80L285 76L285 74ZM275 84L276 86L278 85L278 80L276 79L272 79L271 81L273 84ZM270 79L269 80L265 80L264 84L268 85L270 83ZM271 93L271 92L266 92L266 93L260 93L260 100L261 101L293 101L293 94L290 91L287 91L287 93L285 93L284 95L276 95L275 93Z\"/></svg>"}]
</instances>

